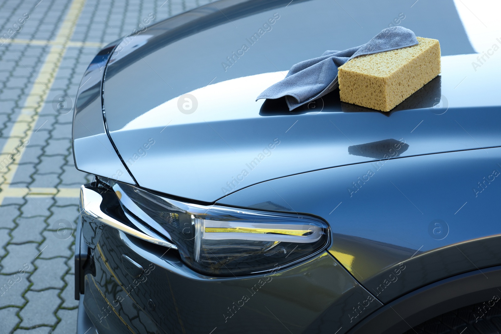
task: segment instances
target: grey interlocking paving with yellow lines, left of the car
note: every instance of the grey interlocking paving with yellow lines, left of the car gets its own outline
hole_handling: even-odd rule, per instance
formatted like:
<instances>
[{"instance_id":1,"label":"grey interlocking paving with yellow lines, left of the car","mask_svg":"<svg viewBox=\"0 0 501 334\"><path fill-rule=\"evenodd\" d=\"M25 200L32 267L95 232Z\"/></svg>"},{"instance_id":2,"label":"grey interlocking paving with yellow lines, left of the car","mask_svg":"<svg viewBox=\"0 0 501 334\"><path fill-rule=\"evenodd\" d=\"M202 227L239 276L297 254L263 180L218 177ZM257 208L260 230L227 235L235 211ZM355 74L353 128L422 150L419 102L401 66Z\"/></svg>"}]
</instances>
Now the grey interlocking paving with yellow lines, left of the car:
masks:
<instances>
[{"instance_id":1,"label":"grey interlocking paving with yellow lines, left of the car","mask_svg":"<svg viewBox=\"0 0 501 334\"><path fill-rule=\"evenodd\" d=\"M73 232L93 177L74 166L71 108L90 61L150 13L207 3L0 0L0 334L76 332Z\"/></svg>"}]
</instances>

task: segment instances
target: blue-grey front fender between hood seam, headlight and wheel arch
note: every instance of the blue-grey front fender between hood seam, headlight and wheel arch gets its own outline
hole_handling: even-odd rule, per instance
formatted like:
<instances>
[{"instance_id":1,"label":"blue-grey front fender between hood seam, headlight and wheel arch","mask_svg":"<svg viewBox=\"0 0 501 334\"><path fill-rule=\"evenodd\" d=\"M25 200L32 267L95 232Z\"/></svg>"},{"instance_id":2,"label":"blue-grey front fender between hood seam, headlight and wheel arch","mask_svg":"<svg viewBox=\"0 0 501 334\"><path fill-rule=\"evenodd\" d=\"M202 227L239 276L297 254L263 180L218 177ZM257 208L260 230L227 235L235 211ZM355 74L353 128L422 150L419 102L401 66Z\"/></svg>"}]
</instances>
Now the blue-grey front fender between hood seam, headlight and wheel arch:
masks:
<instances>
[{"instance_id":1,"label":"blue-grey front fender between hood seam, headlight and wheel arch","mask_svg":"<svg viewBox=\"0 0 501 334\"><path fill-rule=\"evenodd\" d=\"M331 254L388 302L501 264L500 163L501 148L394 158L271 180L217 204L323 217Z\"/></svg>"}]
</instances>

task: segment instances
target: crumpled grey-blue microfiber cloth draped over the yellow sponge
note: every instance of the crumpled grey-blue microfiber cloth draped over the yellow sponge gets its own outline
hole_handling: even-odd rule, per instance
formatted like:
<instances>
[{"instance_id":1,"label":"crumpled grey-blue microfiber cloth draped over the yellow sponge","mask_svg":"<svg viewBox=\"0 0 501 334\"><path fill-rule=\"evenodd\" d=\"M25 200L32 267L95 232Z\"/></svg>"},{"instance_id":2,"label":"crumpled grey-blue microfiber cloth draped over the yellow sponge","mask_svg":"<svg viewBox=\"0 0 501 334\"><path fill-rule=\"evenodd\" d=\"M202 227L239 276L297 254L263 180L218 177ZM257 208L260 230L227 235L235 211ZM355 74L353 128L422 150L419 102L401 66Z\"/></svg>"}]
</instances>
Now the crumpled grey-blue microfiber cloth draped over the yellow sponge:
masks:
<instances>
[{"instance_id":1,"label":"crumpled grey-blue microfiber cloth draped over the yellow sponge","mask_svg":"<svg viewBox=\"0 0 501 334\"><path fill-rule=\"evenodd\" d=\"M417 45L416 35L403 27L383 29L367 44L344 51L326 51L318 58L294 65L284 80L268 87L260 99L285 96L289 110L314 101L338 88L338 67L358 56Z\"/></svg>"}]
</instances>

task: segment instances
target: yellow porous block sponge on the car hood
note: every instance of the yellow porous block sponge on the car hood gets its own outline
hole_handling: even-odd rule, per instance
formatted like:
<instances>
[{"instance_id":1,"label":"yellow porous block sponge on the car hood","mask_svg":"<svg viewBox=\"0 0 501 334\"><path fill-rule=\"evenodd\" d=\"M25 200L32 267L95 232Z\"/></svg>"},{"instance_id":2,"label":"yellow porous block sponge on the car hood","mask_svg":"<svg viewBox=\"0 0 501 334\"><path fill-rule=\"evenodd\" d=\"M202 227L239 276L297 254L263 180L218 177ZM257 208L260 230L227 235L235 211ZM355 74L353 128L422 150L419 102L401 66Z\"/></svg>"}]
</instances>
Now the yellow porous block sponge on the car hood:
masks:
<instances>
[{"instance_id":1,"label":"yellow porous block sponge on the car hood","mask_svg":"<svg viewBox=\"0 0 501 334\"><path fill-rule=\"evenodd\" d=\"M440 73L440 44L419 44L354 58L339 67L341 101L390 111Z\"/></svg>"}]
</instances>

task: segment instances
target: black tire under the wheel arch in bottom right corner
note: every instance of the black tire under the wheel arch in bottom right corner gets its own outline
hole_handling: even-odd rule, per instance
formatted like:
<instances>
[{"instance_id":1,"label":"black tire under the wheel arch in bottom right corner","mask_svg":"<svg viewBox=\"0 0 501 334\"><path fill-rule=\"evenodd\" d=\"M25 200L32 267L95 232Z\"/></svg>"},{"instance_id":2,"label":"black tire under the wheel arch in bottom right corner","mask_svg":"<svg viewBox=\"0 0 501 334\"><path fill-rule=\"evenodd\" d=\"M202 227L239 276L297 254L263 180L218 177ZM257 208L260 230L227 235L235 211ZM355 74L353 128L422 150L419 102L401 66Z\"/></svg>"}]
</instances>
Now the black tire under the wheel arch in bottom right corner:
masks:
<instances>
[{"instance_id":1,"label":"black tire under the wheel arch in bottom right corner","mask_svg":"<svg viewBox=\"0 0 501 334\"><path fill-rule=\"evenodd\" d=\"M493 299L438 315L404 334L501 334L501 300Z\"/></svg>"}]
</instances>

